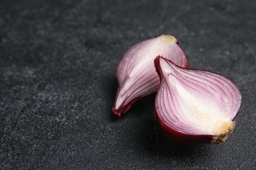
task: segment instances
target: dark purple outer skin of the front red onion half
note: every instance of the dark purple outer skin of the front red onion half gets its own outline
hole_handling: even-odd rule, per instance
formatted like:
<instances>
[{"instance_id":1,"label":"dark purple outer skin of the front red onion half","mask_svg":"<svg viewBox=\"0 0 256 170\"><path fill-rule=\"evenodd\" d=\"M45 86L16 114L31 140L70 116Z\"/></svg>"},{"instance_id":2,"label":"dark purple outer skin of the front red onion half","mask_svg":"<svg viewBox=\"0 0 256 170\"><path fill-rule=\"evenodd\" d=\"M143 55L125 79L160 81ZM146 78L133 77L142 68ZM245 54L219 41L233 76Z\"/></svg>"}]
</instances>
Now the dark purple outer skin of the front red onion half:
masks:
<instances>
[{"instance_id":1,"label":"dark purple outer skin of the front red onion half","mask_svg":"<svg viewBox=\"0 0 256 170\"><path fill-rule=\"evenodd\" d=\"M160 58L162 58L162 57L158 56L154 60L154 65L156 67L156 72L160 76L160 82L161 82L162 76L161 76L161 72L160 72L160 70L161 70L160 69ZM169 59L166 59L166 60L170 61ZM177 67L179 67L179 66L177 66ZM219 143L223 143L227 139L227 137L230 135L230 133L232 133L232 131L236 125L236 121L235 121L235 117L234 117L232 120L232 127L230 127L230 129L228 131L226 131L226 133L222 133L219 135L204 135L204 134L203 135L197 135L197 134L193 135L193 134L182 133L180 131L177 131L177 130L171 128L167 124L165 124L165 122L163 122L163 120L160 118L160 113L157 111L156 106L155 106L155 117L158 122L158 126L160 126L160 129L163 131L163 133L165 133L165 135L167 135L167 137L171 138L173 141L176 141L176 142L182 143L182 144L193 144L193 143L219 144Z\"/></svg>"}]
</instances>

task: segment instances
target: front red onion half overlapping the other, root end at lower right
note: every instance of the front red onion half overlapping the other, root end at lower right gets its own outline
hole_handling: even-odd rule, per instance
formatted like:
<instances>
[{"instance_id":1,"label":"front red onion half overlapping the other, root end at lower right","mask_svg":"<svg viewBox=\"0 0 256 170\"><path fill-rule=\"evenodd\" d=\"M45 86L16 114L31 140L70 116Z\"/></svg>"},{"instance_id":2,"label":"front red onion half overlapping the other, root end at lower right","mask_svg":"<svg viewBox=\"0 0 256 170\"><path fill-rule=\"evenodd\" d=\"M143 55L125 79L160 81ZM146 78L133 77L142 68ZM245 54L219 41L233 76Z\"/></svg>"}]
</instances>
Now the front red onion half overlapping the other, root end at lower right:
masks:
<instances>
[{"instance_id":1,"label":"front red onion half overlapping the other, root end at lower right","mask_svg":"<svg viewBox=\"0 0 256 170\"><path fill-rule=\"evenodd\" d=\"M242 102L236 84L217 73L155 61L160 76L155 113L161 129L181 143L223 143Z\"/></svg>"}]
</instances>

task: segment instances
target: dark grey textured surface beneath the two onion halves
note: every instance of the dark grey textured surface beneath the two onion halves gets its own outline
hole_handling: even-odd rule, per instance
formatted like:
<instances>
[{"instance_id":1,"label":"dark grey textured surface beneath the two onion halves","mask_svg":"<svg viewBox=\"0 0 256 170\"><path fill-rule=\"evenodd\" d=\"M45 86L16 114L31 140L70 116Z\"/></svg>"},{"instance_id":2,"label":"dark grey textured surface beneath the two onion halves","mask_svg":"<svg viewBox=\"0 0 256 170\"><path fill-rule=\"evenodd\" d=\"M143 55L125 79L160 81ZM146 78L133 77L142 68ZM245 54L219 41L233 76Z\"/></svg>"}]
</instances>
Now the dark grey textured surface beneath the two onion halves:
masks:
<instances>
[{"instance_id":1,"label":"dark grey textured surface beneath the two onion halves","mask_svg":"<svg viewBox=\"0 0 256 170\"><path fill-rule=\"evenodd\" d=\"M255 12L255 1L0 1L0 169L253 169ZM117 62L159 34L240 88L225 143L165 137L154 95L112 115Z\"/></svg>"}]
</instances>

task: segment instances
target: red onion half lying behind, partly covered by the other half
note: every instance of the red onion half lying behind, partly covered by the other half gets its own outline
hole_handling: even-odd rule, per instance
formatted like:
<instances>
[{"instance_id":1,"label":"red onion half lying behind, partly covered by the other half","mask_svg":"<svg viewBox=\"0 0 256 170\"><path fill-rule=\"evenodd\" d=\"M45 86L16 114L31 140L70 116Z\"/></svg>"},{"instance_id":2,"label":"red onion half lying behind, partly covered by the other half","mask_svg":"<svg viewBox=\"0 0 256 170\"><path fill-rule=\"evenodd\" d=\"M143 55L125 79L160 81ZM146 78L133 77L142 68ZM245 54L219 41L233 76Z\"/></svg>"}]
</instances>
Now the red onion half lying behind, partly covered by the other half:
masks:
<instances>
[{"instance_id":1,"label":"red onion half lying behind, partly covered by the other half","mask_svg":"<svg viewBox=\"0 0 256 170\"><path fill-rule=\"evenodd\" d=\"M135 44L117 66L119 88L112 108L114 114L121 116L121 112L129 110L137 99L158 90L160 80L154 59L159 55L181 67L188 67L184 51L171 35L160 35Z\"/></svg>"}]
</instances>

